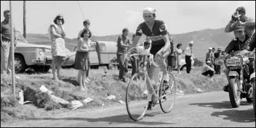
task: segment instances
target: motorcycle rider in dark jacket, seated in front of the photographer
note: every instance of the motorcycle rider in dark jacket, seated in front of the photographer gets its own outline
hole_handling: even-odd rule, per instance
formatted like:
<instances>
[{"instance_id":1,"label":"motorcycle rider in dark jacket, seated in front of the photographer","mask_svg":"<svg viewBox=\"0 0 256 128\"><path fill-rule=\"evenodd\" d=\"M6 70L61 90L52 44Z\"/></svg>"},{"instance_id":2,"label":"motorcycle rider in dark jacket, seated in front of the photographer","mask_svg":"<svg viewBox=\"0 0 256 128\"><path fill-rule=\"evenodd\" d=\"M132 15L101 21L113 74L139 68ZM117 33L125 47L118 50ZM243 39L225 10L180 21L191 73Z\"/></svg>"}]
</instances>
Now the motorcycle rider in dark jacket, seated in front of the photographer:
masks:
<instances>
[{"instance_id":1,"label":"motorcycle rider in dark jacket, seated in front of the photographer","mask_svg":"<svg viewBox=\"0 0 256 128\"><path fill-rule=\"evenodd\" d=\"M246 31L244 29L244 26L237 26L236 29L234 30L234 35L236 38L232 40L228 46L225 49L225 58L230 54L232 51L242 51L244 50L244 46L248 45L248 42L246 42L250 37L246 35ZM227 79L229 81L229 70L228 68L225 68L225 74L227 76ZM242 87L242 86L241 86ZM223 90L225 92L228 92L228 86L224 86Z\"/></svg>"}]
</instances>

